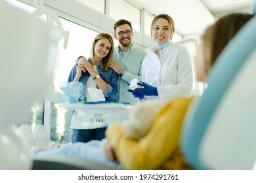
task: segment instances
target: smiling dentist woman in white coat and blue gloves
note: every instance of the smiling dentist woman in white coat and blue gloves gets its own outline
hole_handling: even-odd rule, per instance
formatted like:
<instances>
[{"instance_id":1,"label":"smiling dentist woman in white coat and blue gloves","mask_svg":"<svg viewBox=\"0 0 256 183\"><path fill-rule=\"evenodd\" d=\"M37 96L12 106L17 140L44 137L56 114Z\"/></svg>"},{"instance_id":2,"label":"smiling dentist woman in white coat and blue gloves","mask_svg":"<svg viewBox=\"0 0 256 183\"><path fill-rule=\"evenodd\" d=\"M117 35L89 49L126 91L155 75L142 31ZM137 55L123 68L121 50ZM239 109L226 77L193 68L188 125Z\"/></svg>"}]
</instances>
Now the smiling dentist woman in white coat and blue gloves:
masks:
<instances>
[{"instance_id":1,"label":"smiling dentist woman in white coat and blue gloves","mask_svg":"<svg viewBox=\"0 0 256 183\"><path fill-rule=\"evenodd\" d=\"M177 96L189 96L192 92L192 61L184 46L173 44L175 32L173 19L159 14L151 24L151 38L156 45L148 48L148 56L142 62L142 88L128 90L140 101L159 99L165 103Z\"/></svg>"}]
</instances>

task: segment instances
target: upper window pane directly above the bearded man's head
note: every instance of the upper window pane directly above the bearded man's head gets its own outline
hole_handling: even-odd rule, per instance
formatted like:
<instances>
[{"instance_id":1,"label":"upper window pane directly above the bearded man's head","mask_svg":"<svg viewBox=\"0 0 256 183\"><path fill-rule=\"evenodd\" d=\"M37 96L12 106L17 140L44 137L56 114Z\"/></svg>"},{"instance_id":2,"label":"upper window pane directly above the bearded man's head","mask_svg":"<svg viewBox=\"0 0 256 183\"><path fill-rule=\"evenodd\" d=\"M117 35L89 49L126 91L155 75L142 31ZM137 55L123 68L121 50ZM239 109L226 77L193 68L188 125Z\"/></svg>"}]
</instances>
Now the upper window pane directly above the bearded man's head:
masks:
<instances>
[{"instance_id":1,"label":"upper window pane directly above the bearded man's head","mask_svg":"<svg viewBox=\"0 0 256 183\"><path fill-rule=\"evenodd\" d=\"M128 20L133 29L140 32L140 9L127 1L110 0L110 17Z\"/></svg>"}]
</instances>

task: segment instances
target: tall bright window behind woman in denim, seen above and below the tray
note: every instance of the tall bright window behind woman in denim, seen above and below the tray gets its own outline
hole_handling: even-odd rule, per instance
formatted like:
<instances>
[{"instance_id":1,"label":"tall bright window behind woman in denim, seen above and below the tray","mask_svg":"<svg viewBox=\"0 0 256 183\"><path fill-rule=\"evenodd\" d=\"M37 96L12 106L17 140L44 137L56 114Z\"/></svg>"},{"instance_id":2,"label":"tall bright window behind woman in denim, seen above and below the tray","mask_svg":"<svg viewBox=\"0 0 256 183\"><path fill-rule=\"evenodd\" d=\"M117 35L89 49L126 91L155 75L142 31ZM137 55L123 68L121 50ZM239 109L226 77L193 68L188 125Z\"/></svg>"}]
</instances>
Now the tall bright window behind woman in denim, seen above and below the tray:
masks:
<instances>
[{"instance_id":1,"label":"tall bright window behind woman in denim, seen above and below the tray","mask_svg":"<svg viewBox=\"0 0 256 183\"><path fill-rule=\"evenodd\" d=\"M63 41L59 44L56 69L53 76L53 89L60 91L60 85L67 82L70 70L79 56L89 58L91 44L98 34L96 31L87 29L81 25L60 18L63 28L68 30L70 37L66 50L63 49ZM51 139L60 143L71 141L72 130L70 130L70 110L51 105Z\"/></svg>"}]
</instances>

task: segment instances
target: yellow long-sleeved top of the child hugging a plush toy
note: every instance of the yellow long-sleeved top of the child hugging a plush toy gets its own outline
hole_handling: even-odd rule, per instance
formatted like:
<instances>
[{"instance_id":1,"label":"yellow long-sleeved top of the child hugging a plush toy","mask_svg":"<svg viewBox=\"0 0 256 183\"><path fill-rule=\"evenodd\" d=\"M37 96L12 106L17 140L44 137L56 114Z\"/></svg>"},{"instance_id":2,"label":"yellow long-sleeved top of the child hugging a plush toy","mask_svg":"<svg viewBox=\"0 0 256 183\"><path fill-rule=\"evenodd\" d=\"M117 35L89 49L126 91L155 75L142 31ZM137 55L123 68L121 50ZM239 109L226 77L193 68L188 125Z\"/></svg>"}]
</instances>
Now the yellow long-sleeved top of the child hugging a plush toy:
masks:
<instances>
[{"instance_id":1,"label":"yellow long-sleeved top of the child hugging a plush toy","mask_svg":"<svg viewBox=\"0 0 256 183\"><path fill-rule=\"evenodd\" d=\"M191 169L182 156L179 137L192 99L179 97L169 101L140 141L123 137L121 124L108 126L106 137L123 169Z\"/></svg>"}]
</instances>

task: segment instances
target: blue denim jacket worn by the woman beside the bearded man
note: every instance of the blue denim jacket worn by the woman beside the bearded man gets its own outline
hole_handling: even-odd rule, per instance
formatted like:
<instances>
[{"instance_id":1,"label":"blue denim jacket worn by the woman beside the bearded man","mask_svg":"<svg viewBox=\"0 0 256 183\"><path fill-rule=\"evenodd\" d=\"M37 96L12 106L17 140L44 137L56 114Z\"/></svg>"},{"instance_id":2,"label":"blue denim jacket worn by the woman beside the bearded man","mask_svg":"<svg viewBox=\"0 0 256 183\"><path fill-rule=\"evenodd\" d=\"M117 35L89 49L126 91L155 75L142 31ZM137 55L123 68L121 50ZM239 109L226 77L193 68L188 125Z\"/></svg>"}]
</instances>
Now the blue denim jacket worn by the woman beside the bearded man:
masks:
<instances>
[{"instance_id":1,"label":"blue denim jacket worn by the woman beside the bearded man","mask_svg":"<svg viewBox=\"0 0 256 183\"><path fill-rule=\"evenodd\" d=\"M91 63L91 59L88 59L88 61ZM104 92L104 97L106 98L106 101L114 101L117 95L118 75L110 67L108 68L108 72L102 71L102 64L103 64L102 61L100 61L100 63L98 63L96 66L97 66L98 75L100 75L102 80L104 80L104 82L108 84L106 91ZM76 75L77 65L78 63L75 63L74 67L70 71L70 75L68 76L68 82L72 82L74 80ZM83 88L85 88L89 76L90 76L90 73L88 71L86 73L82 71L82 75L79 78L79 82L83 83Z\"/></svg>"}]
</instances>

